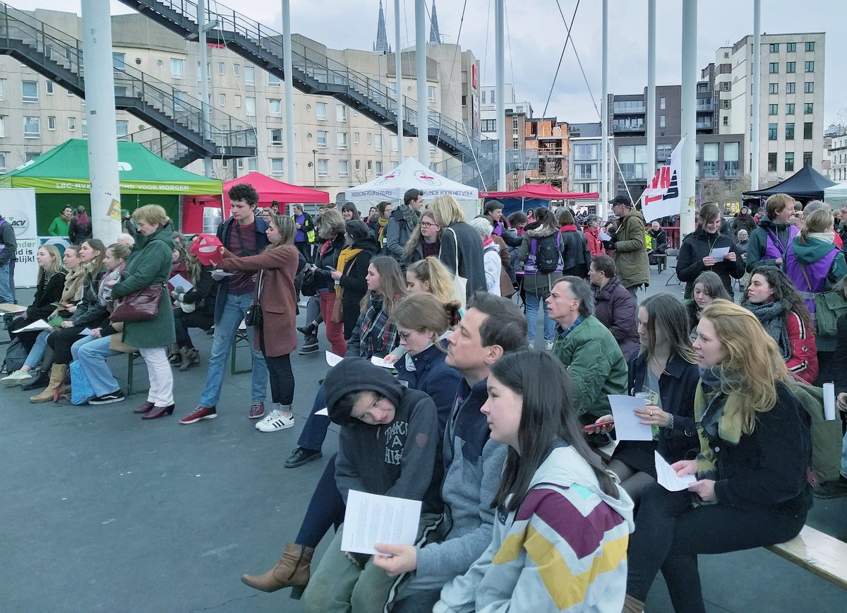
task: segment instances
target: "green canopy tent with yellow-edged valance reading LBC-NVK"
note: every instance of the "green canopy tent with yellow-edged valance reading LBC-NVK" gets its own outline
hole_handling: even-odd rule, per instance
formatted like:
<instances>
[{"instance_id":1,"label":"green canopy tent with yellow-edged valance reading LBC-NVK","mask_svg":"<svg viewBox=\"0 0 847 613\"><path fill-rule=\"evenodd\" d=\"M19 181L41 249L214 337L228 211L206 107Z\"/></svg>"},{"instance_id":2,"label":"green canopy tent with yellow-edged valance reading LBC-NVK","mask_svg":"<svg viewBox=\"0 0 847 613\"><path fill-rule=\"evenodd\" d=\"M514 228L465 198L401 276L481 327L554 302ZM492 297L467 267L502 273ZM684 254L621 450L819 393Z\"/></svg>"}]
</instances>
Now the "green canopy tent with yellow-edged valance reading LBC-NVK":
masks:
<instances>
[{"instance_id":1,"label":"green canopy tent with yellow-edged valance reading LBC-NVK","mask_svg":"<svg viewBox=\"0 0 847 613\"><path fill-rule=\"evenodd\" d=\"M222 183L169 164L137 142L118 142L118 173L122 209L160 204L180 227L181 196L220 196ZM88 179L88 142L78 138L42 153L37 159L0 175L2 187L33 187L36 190L38 235L62 208L85 204L91 210Z\"/></svg>"}]
</instances>

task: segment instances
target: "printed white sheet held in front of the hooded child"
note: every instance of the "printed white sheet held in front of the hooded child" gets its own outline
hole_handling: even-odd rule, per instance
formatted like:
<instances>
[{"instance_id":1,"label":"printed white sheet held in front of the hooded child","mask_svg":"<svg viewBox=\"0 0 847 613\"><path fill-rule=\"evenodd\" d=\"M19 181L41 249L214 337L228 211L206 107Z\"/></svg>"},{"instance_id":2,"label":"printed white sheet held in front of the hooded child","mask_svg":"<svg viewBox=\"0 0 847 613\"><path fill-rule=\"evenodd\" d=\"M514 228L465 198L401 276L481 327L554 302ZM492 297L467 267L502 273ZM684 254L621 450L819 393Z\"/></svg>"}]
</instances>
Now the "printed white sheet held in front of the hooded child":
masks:
<instances>
[{"instance_id":1,"label":"printed white sheet held in front of the hooded child","mask_svg":"<svg viewBox=\"0 0 847 613\"><path fill-rule=\"evenodd\" d=\"M378 496L374 493L347 493L341 551L381 555L376 543L413 545L418 534L421 501Z\"/></svg>"}]
</instances>

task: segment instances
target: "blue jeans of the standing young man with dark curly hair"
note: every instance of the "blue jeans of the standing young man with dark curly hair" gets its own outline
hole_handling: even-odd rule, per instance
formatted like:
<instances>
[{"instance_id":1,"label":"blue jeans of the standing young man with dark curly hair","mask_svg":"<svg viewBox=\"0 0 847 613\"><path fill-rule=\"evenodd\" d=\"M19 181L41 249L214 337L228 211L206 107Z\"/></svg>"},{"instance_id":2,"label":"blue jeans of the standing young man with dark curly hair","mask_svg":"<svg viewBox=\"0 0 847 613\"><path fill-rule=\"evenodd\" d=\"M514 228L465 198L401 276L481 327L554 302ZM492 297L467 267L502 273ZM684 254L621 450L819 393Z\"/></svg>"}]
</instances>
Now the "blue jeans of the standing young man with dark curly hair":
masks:
<instances>
[{"instance_id":1,"label":"blue jeans of the standing young man with dark curly hair","mask_svg":"<svg viewBox=\"0 0 847 613\"><path fill-rule=\"evenodd\" d=\"M232 339L244 319L247 307L253 304L252 293L239 296L229 294L224 304L224 312L220 320L215 322L212 340L212 356L209 358L206 386L200 394L200 406L213 407L218 405L220 390L224 387L224 369L227 358L230 357ZM268 388L268 365L258 349L253 348L253 329L247 326L247 338L250 339L250 353L253 360L252 384L250 393L253 402L263 402Z\"/></svg>"}]
</instances>

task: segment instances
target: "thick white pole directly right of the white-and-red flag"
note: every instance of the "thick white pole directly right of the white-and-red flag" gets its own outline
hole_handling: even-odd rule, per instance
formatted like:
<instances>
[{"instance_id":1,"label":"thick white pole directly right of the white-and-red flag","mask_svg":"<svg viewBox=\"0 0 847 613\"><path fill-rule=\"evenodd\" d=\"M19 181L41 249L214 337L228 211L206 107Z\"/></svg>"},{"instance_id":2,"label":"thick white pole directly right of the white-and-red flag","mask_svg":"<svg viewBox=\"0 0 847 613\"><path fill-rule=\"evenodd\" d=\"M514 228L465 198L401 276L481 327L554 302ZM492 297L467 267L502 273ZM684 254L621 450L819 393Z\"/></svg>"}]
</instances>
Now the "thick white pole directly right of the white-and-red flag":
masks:
<instances>
[{"instance_id":1,"label":"thick white pole directly right of the white-and-red flag","mask_svg":"<svg viewBox=\"0 0 847 613\"><path fill-rule=\"evenodd\" d=\"M694 231L695 148L697 141L697 0L683 3L682 45L682 135L685 138L682 155L682 176L679 181L681 205L679 229L685 236Z\"/></svg>"}]
</instances>

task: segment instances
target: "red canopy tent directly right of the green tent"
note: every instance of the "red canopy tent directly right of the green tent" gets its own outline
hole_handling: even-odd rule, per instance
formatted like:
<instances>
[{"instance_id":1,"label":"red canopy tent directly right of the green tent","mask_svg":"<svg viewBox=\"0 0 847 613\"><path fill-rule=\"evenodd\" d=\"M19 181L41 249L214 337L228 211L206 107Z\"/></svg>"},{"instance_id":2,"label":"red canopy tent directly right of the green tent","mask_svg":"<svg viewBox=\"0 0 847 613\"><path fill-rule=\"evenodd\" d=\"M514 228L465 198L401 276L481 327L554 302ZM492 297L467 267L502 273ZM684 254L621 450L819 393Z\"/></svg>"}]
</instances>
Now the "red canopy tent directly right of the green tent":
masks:
<instances>
[{"instance_id":1,"label":"red canopy tent directly right of the green tent","mask_svg":"<svg viewBox=\"0 0 847 613\"><path fill-rule=\"evenodd\" d=\"M202 231L203 226L203 209L213 207L223 209L224 219L230 215L230 197L227 193L230 188L239 183L250 183L259 192L260 207L269 207L274 200L280 204L291 203L318 203L328 204L329 193L321 192L310 187L300 187L277 181L269 176L263 175L261 172L248 172L245 176L240 176L232 181L224 182L224 197L223 202L220 197L203 196L202 198L183 198L182 208L182 231L193 234ZM285 213L285 206L280 207L280 213Z\"/></svg>"}]
</instances>

